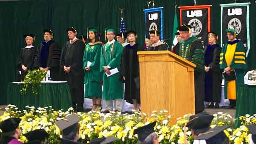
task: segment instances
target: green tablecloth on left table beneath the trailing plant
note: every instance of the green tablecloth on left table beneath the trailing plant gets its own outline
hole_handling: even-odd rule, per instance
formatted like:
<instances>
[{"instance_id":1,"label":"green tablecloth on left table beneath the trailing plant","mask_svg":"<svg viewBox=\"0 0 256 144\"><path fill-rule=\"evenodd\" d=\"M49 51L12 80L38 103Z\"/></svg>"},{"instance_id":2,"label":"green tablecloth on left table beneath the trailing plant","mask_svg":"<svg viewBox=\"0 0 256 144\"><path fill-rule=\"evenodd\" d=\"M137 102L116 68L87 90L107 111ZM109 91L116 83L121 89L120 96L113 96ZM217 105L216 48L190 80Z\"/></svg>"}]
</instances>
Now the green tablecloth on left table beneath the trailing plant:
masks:
<instances>
[{"instance_id":1,"label":"green tablecloth on left table beneath the trailing plant","mask_svg":"<svg viewBox=\"0 0 256 144\"><path fill-rule=\"evenodd\" d=\"M25 106L49 107L65 111L72 107L70 90L67 83L41 83L40 92L34 96L32 91L21 94L22 84L8 83L7 104L13 104L24 109Z\"/></svg>"}]
</instances>

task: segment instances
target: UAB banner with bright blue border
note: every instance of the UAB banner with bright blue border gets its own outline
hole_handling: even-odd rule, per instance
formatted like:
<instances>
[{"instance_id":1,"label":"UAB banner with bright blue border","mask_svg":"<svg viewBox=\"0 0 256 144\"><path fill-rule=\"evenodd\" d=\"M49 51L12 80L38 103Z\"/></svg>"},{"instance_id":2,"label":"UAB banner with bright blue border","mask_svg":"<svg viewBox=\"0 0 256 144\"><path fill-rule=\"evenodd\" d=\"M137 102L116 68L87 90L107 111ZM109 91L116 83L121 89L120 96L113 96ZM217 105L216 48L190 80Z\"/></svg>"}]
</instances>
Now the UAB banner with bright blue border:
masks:
<instances>
[{"instance_id":1,"label":"UAB banner with bright blue border","mask_svg":"<svg viewBox=\"0 0 256 144\"><path fill-rule=\"evenodd\" d=\"M161 40L163 40L163 7L145 9L144 17L146 24L146 35L150 30L161 31Z\"/></svg>"}]
</instances>

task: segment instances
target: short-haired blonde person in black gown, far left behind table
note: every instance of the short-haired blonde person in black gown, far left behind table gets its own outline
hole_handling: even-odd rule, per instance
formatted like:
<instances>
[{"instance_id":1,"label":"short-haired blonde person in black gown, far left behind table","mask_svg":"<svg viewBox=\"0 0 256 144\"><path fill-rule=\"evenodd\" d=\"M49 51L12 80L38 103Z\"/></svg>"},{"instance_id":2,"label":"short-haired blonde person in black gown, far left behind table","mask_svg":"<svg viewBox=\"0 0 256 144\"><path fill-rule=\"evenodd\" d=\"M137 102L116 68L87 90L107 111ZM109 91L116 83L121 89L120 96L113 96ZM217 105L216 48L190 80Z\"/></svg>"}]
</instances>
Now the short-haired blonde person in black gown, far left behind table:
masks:
<instances>
[{"instance_id":1,"label":"short-haired blonde person in black gown, far left behind table","mask_svg":"<svg viewBox=\"0 0 256 144\"><path fill-rule=\"evenodd\" d=\"M23 35L27 46L21 49L19 57L16 64L17 81L24 80L25 75L27 75L28 70L34 70L35 65L35 54L36 48L32 45L35 40L35 35L27 34Z\"/></svg>"}]
</instances>

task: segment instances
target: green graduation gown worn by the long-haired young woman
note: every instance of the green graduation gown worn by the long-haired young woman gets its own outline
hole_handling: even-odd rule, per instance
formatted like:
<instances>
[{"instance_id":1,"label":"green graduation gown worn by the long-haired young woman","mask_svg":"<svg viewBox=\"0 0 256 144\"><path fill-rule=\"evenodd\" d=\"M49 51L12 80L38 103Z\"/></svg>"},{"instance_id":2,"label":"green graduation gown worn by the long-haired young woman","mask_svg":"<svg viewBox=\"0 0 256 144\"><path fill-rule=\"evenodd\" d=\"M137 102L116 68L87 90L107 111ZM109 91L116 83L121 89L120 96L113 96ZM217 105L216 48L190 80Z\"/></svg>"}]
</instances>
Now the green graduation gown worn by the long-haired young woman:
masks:
<instances>
[{"instance_id":1,"label":"green graduation gown worn by the long-haired young woman","mask_svg":"<svg viewBox=\"0 0 256 144\"><path fill-rule=\"evenodd\" d=\"M84 66L84 97L86 98L102 98L101 80L102 73L100 72L100 49L101 42L89 43L85 46L83 66ZM87 61L92 62L89 66L90 70L86 71Z\"/></svg>"}]
</instances>

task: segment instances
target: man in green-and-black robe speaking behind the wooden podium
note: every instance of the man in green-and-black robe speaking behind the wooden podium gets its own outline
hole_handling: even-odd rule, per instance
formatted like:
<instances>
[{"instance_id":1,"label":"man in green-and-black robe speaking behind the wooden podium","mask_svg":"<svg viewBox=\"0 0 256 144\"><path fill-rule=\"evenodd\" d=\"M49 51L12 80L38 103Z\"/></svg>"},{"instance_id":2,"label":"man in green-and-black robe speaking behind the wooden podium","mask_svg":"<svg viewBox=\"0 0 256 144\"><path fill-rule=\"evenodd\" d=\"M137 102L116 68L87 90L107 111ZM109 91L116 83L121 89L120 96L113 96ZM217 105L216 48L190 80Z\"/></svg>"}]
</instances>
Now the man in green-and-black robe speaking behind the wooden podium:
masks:
<instances>
[{"instance_id":1,"label":"man in green-and-black robe speaking behind the wooden podium","mask_svg":"<svg viewBox=\"0 0 256 144\"><path fill-rule=\"evenodd\" d=\"M205 73L204 73L204 51L202 43L195 36L191 35L191 26L183 24L178 27L181 40L179 47L173 49L173 53L181 56L196 64L194 69L194 84L195 84L195 108L196 113L204 111L205 100Z\"/></svg>"}]
</instances>

